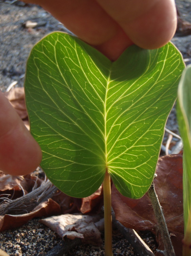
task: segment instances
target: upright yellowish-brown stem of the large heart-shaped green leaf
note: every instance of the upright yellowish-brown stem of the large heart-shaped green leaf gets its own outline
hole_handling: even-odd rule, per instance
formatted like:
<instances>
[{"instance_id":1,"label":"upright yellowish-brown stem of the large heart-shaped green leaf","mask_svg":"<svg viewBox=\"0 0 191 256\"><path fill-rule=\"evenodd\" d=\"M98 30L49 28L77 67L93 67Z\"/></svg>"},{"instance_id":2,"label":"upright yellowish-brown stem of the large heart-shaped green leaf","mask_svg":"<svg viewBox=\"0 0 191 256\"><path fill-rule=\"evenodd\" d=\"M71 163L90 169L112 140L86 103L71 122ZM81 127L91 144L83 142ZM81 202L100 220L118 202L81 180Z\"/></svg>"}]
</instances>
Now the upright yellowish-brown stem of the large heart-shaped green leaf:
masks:
<instances>
[{"instance_id":1,"label":"upright yellowish-brown stem of the large heart-shaped green leaf","mask_svg":"<svg viewBox=\"0 0 191 256\"><path fill-rule=\"evenodd\" d=\"M111 215L111 184L110 175L106 170L103 181L104 197L104 226L105 226L105 256L113 256L112 253L112 215Z\"/></svg>"}]
</instances>

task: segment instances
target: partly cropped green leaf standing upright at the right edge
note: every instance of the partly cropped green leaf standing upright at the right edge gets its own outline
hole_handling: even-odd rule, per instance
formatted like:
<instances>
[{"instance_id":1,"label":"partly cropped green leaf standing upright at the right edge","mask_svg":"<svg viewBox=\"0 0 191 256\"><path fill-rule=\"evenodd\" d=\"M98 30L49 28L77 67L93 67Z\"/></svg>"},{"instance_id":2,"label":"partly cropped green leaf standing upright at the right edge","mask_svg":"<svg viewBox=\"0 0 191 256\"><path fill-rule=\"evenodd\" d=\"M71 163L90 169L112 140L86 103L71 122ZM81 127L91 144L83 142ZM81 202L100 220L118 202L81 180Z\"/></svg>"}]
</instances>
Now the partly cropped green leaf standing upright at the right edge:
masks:
<instances>
[{"instance_id":1,"label":"partly cropped green leaf standing upright at the right edge","mask_svg":"<svg viewBox=\"0 0 191 256\"><path fill-rule=\"evenodd\" d=\"M184 144L183 205L184 226L186 231L191 208L191 65L184 70L179 83L177 117L181 138Z\"/></svg>"}]
</instances>

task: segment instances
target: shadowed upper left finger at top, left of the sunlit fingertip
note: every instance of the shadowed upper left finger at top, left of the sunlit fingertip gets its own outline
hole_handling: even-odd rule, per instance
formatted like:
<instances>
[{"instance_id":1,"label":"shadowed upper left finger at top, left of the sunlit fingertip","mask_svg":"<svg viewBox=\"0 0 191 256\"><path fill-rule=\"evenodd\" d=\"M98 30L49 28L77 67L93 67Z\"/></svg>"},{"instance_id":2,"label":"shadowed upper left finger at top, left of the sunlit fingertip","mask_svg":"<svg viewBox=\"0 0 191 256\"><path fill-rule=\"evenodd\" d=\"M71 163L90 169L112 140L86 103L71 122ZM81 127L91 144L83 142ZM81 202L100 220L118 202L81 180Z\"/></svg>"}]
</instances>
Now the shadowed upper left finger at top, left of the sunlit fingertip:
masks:
<instances>
[{"instance_id":1,"label":"shadowed upper left finger at top, left of the sunlit fingertip","mask_svg":"<svg viewBox=\"0 0 191 256\"><path fill-rule=\"evenodd\" d=\"M118 25L94 0L28 0L40 4L79 38L92 45L116 34Z\"/></svg>"}]
</instances>

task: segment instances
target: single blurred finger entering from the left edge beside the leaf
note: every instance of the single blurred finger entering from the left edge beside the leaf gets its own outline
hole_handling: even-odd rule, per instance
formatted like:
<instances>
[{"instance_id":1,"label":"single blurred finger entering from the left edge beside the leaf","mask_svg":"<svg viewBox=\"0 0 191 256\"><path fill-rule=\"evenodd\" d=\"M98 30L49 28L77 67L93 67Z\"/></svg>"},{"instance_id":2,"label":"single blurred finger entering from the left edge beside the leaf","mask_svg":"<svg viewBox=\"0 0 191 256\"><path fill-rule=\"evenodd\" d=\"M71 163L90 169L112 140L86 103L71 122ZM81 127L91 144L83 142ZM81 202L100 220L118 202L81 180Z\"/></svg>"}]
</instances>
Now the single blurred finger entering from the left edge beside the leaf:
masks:
<instances>
[{"instance_id":1,"label":"single blurred finger entering from the left edge beside the leaf","mask_svg":"<svg viewBox=\"0 0 191 256\"><path fill-rule=\"evenodd\" d=\"M0 109L0 170L28 174L39 166L41 149L1 91Z\"/></svg>"}]
</instances>

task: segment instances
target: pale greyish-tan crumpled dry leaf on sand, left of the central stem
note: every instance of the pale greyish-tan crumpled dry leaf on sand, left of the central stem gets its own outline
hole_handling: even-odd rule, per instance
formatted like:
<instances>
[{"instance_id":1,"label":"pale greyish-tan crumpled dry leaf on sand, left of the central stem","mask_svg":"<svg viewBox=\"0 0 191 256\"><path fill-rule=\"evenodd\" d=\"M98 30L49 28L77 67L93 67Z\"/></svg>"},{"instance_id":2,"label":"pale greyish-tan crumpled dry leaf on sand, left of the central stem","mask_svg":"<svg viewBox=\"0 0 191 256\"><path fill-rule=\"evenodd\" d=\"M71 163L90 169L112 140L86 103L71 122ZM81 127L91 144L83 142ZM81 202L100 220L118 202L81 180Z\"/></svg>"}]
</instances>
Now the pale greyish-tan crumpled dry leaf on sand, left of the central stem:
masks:
<instances>
[{"instance_id":1,"label":"pale greyish-tan crumpled dry leaf on sand, left of the central stem","mask_svg":"<svg viewBox=\"0 0 191 256\"><path fill-rule=\"evenodd\" d=\"M39 222L50 227L62 239L81 238L84 243L99 245L102 242L101 233L94 224L99 220L100 215L63 214L41 219Z\"/></svg>"}]
</instances>

